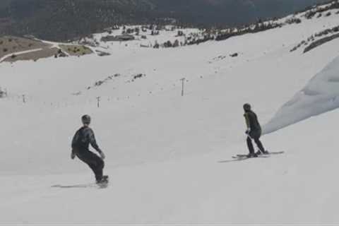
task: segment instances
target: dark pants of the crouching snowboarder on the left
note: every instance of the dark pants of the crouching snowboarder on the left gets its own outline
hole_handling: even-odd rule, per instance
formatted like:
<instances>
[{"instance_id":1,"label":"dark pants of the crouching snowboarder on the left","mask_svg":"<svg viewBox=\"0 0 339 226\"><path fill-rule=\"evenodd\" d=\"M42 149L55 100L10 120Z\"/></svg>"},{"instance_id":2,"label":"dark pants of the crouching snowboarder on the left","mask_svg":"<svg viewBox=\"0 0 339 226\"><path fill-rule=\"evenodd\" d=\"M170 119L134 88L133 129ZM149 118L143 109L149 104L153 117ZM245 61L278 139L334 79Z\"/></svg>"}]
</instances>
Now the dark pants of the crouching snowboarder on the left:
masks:
<instances>
[{"instance_id":1,"label":"dark pants of the crouching snowboarder on the left","mask_svg":"<svg viewBox=\"0 0 339 226\"><path fill-rule=\"evenodd\" d=\"M104 169L105 162L99 156L86 149L76 150L76 156L93 170L95 179L102 179L102 169Z\"/></svg>"}]
</instances>

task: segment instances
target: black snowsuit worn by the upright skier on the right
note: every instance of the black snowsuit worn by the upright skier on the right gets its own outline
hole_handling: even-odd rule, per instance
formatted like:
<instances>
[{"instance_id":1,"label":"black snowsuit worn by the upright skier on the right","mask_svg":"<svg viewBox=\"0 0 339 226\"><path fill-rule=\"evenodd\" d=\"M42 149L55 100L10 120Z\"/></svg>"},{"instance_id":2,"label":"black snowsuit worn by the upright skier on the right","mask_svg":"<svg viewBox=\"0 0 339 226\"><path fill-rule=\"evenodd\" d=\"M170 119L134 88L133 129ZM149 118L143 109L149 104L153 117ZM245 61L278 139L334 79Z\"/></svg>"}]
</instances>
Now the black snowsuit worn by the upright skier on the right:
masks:
<instances>
[{"instance_id":1,"label":"black snowsuit worn by the upright skier on the right","mask_svg":"<svg viewBox=\"0 0 339 226\"><path fill-rule=\"evenodd\" d=\"M252 144L252 139L261 150L261 153L265 152L265 148L263 148L263 144L259 140L261 137L261 126L258 122L258 117L256 117L256 113L252 112L251 110L246 111L244 114L246 119L246 125L248 129L251 129L249 132L249 137L247 137L247 147L249 148L249 153L254 154L254 147Z\"/></svg>"}]
</instances>

